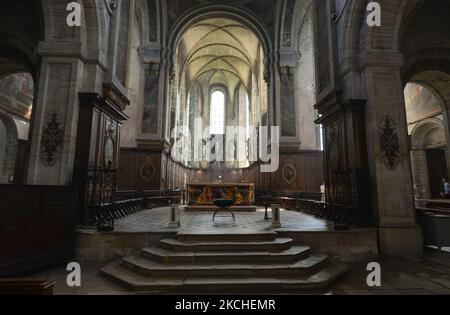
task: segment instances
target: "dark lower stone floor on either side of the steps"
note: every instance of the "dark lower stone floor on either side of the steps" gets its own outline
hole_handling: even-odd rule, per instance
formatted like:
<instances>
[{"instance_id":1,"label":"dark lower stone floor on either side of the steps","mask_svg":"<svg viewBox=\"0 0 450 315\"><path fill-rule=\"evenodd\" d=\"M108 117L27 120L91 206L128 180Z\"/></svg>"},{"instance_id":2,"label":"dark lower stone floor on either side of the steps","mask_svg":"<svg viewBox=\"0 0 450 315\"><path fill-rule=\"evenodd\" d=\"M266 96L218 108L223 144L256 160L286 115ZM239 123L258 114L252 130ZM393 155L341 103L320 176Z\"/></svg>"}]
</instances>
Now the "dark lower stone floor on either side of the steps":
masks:
<instances>
[{"instance_id":1,"label":"dark lower stone floor on either side of the steps","mask_svg":"<svg viewBox=\"0 0 450 315\"><path fill-rule=\"evenodd\" d=\"M332 295L432 295L450 294L450 253L427 250L420 258L384 257L379 259L382 267L382 286L368 288L366 264L350 266L350 272L329 291ZM122 295L130 294L122 287L99 276L104 266L82 266L81 288L65 285L65 268L39 273L33 278L54 279L56 295ZM292 294L296 294L292 292Z\"/></svg>"}]
</instances>

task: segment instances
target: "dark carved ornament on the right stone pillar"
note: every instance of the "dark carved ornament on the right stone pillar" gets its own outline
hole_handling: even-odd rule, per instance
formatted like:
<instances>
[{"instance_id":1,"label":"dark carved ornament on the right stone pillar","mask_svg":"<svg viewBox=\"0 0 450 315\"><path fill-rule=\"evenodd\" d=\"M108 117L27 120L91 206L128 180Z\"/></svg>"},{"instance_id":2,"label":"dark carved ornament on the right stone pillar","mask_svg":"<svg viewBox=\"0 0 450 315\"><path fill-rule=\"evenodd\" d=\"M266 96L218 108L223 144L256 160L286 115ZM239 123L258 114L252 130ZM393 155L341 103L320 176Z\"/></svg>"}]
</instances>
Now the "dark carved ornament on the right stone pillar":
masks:
<instances>
[{"instance_id":1,"label":"dark carved ornament on the right stone pillar","mask_svg":"<svg viewBox=\"0 0 450 315\"><path fill-rule=\"evenodd\" d=\"M381 158L390 171L395 171L400 163L400 142L395 121L384 116L380 124Z\"/></svg>"}]
</instances>

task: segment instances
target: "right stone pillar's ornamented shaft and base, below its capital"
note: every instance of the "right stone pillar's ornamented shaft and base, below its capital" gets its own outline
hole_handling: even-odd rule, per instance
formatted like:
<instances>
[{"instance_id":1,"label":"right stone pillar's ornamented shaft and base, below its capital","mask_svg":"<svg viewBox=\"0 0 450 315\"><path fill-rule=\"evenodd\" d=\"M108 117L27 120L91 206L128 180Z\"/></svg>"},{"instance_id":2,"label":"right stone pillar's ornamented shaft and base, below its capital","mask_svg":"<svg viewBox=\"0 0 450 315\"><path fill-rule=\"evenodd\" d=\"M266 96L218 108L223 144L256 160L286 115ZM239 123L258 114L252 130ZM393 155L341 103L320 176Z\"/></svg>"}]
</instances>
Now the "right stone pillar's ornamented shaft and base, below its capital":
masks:
<instances>
[{"instance_id":1,"label":"right stone pillar's ornamented shaft and base, below its capital","mask_svg":"<svg viewBox=\"0 0 450 315\"><path fill-rule=\"evenodd\" d=\"M400 76L402 58L374 54L363 59L367 88L367 148L373 209L384 254L419 254L411 160Z\"/></svg>"}]
</instances>

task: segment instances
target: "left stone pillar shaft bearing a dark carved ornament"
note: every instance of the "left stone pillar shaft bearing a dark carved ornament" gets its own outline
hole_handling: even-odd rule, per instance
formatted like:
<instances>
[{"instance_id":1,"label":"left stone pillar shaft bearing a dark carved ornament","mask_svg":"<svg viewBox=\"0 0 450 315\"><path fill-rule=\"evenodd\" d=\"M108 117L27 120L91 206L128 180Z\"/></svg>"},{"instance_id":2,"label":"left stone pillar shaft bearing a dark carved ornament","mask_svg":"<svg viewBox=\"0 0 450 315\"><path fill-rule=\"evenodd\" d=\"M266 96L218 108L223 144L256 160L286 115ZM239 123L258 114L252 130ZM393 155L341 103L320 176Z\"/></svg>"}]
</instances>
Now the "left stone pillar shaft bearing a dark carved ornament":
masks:
<instances>
[{"instance_id":1,"label":"left stone pillar shaft bearing a dark carved ornament","mask_svg":"<svg viewBox=\"0 0 450 315\"><path fill-rule=\"evenodd\" d=\"M84 65L79 58L42 58L33 113L30 185L69 185L75 159L78 91Z\"/></svg>"}]
</instances>

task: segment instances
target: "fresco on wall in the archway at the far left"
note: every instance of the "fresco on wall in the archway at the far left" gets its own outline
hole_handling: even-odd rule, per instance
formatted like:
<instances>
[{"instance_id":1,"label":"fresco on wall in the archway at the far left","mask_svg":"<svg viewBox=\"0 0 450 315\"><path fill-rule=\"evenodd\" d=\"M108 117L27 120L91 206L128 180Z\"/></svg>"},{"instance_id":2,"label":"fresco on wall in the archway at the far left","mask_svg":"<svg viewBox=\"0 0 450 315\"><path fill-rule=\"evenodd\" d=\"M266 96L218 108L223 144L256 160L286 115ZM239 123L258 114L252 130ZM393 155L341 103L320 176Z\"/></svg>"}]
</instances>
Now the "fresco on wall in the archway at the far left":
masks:
<instances>
[{"instance_id":1,"label":"fresco on wall in the archway at the far left","mask_svg":"<svg viewBox=\"0 0 450 315\"><path fill-rule=\"evenodd\" d=\"M0 80L0 108L30 120L33 105L33 78L28 73L16 73Z\"/></svg>"}]
</instances>

